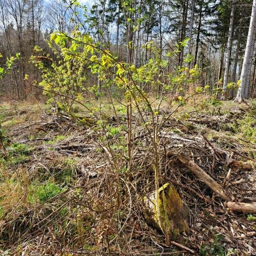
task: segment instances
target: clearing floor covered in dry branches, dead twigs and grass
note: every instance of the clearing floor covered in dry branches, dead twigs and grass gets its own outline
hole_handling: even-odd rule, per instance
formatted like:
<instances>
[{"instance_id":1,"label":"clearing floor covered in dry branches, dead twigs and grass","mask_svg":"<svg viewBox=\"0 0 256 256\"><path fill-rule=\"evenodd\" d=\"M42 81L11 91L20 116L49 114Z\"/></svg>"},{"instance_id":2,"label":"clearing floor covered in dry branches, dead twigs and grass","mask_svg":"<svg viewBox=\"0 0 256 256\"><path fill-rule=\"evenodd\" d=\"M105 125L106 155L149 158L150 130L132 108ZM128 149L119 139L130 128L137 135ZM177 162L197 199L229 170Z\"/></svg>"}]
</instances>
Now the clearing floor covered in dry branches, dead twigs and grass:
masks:
<instances>
[{"instance_id":1,"label":"clearing floor covered in dry branches, dead twigs and grass","mask_svg":"<svg viewBox=\"0 0 256 256\"><path fill-rule=\"evenodd\" d=\"M166 123L160 182L175 186L190 216L190 233L169 247L143 214L154 190L148 134L136 126L134 167L113 173L110 154L124 161L125 109L116 106L119 122L102 109L108 134L79 109L78 120L40 103L0 105L0 255L256 255L256 214L231 212L176 157L190 155L235 201L255 202L256 102L184 107Z\"/></svg>"}]
</instances>

